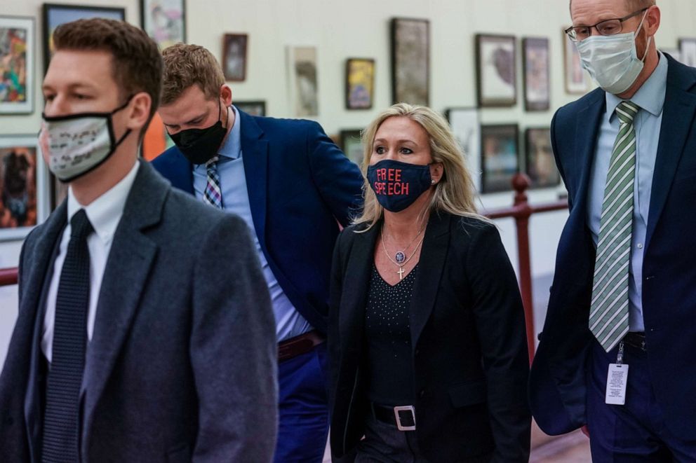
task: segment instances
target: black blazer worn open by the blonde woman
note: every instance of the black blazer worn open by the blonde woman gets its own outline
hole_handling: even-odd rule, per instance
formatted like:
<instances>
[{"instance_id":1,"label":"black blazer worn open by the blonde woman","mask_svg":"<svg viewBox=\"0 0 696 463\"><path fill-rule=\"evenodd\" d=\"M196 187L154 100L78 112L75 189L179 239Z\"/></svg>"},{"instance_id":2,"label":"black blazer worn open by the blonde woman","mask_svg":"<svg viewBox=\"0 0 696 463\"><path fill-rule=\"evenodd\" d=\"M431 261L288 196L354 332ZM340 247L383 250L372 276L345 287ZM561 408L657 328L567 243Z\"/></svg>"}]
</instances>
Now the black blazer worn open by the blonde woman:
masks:
<instances>
[{"instance_id":1,"label":"black blazer worn open by the blonde woman","mask_svg":"<svg viewBox=\"0 0 696 463\"><path fill-rule=\"evenodd\" d=\"M329 313L331 450L340 458L363 436L363 319L380 224L343 230L333 258ZM410 303L417 438L434 462L493 452L526 462L530 413L524 312L495 226L432 213Z\"/></svg>"}]
</instances>

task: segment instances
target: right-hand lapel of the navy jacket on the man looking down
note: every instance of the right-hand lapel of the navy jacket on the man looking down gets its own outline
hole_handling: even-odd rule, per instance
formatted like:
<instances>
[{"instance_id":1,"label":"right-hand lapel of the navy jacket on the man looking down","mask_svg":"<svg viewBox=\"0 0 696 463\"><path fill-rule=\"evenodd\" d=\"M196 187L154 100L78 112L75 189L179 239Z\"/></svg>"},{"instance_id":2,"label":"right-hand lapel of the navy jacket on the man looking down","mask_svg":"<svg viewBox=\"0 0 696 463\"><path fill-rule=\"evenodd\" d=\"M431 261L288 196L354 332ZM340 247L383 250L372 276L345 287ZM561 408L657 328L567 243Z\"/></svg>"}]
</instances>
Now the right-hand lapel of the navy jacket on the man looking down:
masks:
<instances>
[{"instance_id":1,"label":"right-hand lapel of the navy jacket on the man looking down","mask_svg":"<svg viewBox=\"0 0 696 463\"><path fill-rule=\"evenodd\" d=\"M262 246L266 238L266 208L268 184L268 141L262 139L263 131L252 116L238 111L241 123L241 151L249 195L251 217L256 236Z\"/></svg>"}]
</instances>

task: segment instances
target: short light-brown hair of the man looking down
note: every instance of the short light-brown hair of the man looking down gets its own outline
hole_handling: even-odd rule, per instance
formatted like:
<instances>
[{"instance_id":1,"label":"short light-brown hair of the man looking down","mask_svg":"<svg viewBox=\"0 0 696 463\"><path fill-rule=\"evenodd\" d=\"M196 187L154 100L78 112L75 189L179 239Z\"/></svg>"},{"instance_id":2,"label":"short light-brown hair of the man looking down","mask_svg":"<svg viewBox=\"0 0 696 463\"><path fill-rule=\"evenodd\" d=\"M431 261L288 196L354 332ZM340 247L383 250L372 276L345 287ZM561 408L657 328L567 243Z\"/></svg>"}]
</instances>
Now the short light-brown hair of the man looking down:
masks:
<instances>
[{"instance_id":1,"label":"short light-brown hair of the man looking down","mask_svg":"<svg viewBox=\"0 0 696 463\"><path fill-rule=\"evenodd\" d=\"M165 48L162 104L175 102L191 85L198 85L207 98L220 95L225 83L222 68L212 53L199 45L177 43Z\"/></svg>"}]
</instances>

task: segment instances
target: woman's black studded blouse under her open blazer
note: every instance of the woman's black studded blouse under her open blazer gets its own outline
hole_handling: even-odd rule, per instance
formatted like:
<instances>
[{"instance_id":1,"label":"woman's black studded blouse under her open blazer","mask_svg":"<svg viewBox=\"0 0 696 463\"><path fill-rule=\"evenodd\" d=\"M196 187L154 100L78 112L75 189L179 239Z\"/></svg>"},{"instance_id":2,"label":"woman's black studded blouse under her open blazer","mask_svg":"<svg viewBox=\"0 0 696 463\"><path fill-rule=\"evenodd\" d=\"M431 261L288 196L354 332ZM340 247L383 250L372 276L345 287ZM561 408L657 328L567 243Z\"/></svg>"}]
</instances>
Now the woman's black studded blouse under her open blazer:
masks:
<instances>
[{"instance_id":1,"label":"woman's black studded blouse under her open blazer","mask_svg":"<svg viewBox=\"0 0 696 463\"><path fill-rule=\"evenodd\" d=\"M380 405L412 405L415 399L408 307L417 270L418 264L391 286L373 264L365 310L366 392Z\"/></svg>"}]
</instances>

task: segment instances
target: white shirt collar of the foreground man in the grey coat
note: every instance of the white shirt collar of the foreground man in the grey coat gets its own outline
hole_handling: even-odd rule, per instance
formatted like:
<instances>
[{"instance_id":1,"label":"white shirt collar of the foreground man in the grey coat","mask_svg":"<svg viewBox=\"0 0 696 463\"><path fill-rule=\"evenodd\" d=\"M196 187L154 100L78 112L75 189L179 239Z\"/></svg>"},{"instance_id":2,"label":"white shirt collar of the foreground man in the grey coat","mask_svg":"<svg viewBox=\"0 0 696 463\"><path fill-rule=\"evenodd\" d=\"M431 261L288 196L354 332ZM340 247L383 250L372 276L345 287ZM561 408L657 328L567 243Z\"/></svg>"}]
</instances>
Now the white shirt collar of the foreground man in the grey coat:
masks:
<instances>
[{"instance_id":1,"label":"white shirt collar of the foreground man in the grey coat","mask_svg":"<svg viewBox=\"0 0 696 463\"><path fill-rule=\"evenodd\" d=\"M131 191L131 186L133 186L135 174L138 173L139 167L140 161L136 161L131 172L128 172L126 177L123 177L123 179L112 186L109 191L84 207L77 202L75 195L72 193L72 186L68 188L67 220L70 221L72 216L80 209L85 209L87 218L92 224L95 233L97 233L100 240L102 240L105 245L109 244L114 237L114 233L116 233L116 227L119 225L119 221L121 221L123 207L126 206L126 199L128 198L128 193Z\"/></svg>"}]
</instances>

